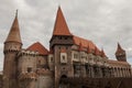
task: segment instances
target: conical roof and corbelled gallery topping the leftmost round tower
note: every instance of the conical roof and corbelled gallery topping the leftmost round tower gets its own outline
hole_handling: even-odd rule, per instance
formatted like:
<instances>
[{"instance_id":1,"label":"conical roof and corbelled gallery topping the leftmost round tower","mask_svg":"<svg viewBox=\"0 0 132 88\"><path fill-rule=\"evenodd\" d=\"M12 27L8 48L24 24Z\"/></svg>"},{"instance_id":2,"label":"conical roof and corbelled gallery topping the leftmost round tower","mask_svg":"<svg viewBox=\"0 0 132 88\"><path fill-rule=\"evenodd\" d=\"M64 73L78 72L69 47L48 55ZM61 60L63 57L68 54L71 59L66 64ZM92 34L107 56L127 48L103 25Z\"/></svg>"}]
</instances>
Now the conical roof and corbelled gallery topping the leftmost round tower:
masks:
<instances>
[{"instance_id":1,"label":"conical roof and corbelled gallery topping the leftmost round tower","mask_svg":"<svg viewBox=\"0 0 132 88\"><path fill-rule=\"evenodd\" d=\"M22 41L21 41L21 35L20 35L18 11L16 11L11 30L4 42L4 51L3 52L4 52L4 54L7 54L10 51L16 52L16 51L21 50L21 46L22 46Z\"/></svg>"}]
</instances>

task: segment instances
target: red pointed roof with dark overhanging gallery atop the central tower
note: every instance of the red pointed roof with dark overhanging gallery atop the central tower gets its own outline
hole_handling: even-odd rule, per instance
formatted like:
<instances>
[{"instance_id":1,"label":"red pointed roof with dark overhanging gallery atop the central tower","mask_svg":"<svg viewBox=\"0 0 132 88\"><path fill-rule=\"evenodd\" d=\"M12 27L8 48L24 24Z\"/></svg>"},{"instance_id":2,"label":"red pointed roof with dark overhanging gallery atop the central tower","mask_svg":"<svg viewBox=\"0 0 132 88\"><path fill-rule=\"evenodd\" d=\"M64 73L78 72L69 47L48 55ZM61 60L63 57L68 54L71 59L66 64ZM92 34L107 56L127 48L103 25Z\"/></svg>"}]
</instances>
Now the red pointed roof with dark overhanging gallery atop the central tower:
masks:
<instances>
[{"instance_id":1,"label":"red pointed roof with dark overhanging gallery atop the central tower","mask_svg":"<svg viewBox=\"0 0 132 88\"><path fill-rule=\"evenodd\" d=\"M57 10L57 16L54 25L54 31L52 38L50 41L50 46L54 47L55 45L72 45L73 35L67 26L66 20L63 15L61 7Z\"/></svg>"}]
</instances>

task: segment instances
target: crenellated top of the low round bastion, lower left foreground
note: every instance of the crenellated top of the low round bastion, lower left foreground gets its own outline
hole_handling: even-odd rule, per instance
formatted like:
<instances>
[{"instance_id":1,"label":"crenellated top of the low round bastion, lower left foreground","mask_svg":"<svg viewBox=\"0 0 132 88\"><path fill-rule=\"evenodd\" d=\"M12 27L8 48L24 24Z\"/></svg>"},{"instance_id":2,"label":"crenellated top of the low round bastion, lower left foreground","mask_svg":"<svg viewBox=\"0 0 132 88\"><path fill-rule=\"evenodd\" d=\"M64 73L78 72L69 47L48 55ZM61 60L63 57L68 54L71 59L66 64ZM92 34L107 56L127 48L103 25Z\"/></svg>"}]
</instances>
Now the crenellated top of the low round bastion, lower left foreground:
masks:
<instances>
[{"instance_id":1,"label":"crenellated top of the low round bastion, lower left foreground","mask_svg":"<svg viewBox=\"0 0 132 88\"><path fill-rule=\"evenodd\" d=\"M35 73L25 73L25 74L21 74L19 76L20 80L24 80L24 79L36 79L37 75Z\"/></svg>"}]
</instances>

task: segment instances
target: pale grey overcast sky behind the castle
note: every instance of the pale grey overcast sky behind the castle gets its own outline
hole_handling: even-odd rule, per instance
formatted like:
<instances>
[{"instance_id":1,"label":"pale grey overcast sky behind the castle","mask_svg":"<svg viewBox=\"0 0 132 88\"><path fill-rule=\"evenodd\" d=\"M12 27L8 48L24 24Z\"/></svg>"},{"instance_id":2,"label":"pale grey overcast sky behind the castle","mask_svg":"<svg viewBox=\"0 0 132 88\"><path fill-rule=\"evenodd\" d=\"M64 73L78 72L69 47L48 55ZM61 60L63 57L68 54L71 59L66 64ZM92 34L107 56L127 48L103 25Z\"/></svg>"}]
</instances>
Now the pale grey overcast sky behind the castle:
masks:
<instances>
[{"instance_id":1,"label":"pale grey overcast sky behind the castle","mask_svg":"<svg viewBox=\"0 0 132 88\"><path fill-rule=\"evenodd\" d=\"M0 0L0 70L3 68L3 42L15 10L23 48L41 42L48 48L58 6L75 35L91 40L116 59L117 42L132 64L132 0Z\"/></svg>"}]
</instances>

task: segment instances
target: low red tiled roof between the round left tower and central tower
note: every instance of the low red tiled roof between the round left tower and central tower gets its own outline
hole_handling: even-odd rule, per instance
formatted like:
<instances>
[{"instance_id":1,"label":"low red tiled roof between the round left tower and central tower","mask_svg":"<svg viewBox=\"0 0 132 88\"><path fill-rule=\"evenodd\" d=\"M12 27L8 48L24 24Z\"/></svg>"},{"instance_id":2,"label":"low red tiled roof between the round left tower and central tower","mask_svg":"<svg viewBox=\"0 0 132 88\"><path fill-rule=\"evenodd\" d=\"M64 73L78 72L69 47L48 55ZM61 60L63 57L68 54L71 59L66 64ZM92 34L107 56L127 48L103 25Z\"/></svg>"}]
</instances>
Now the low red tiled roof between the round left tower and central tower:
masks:
<instances>
[{"instance_id":1,"label":"low red tiled roof between the round left tower and central tower","mask_svg":"<svg viewBox=\"0 0 132 88\"><path fill-rule=\"evenodd\" d=\"M38 42L32 44L30 47L26 48L28 51L38 52L41 55L47 55L48 51Z\"/></svg>"}]
</instances>

